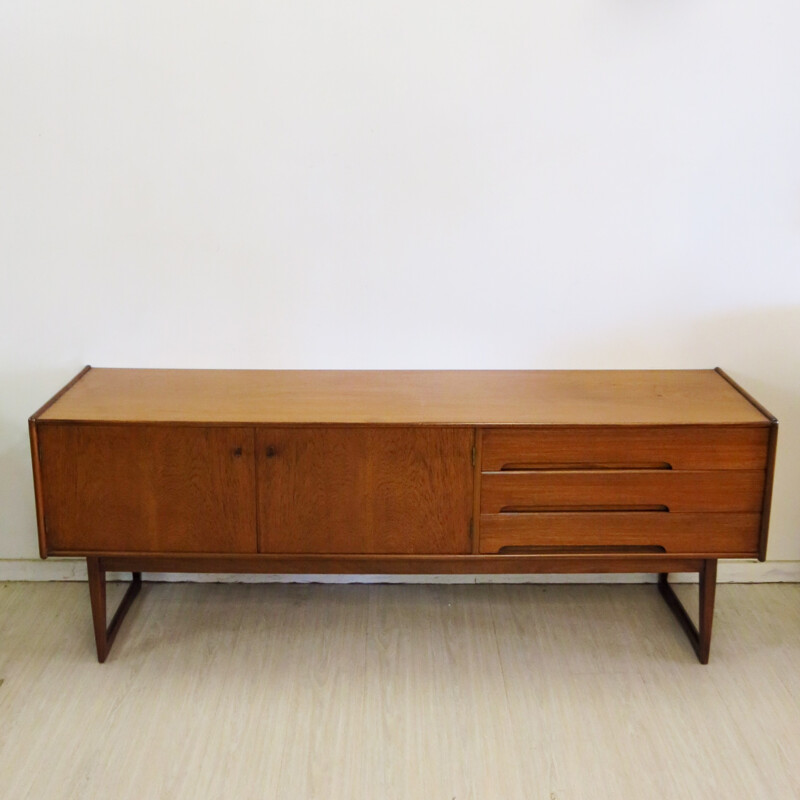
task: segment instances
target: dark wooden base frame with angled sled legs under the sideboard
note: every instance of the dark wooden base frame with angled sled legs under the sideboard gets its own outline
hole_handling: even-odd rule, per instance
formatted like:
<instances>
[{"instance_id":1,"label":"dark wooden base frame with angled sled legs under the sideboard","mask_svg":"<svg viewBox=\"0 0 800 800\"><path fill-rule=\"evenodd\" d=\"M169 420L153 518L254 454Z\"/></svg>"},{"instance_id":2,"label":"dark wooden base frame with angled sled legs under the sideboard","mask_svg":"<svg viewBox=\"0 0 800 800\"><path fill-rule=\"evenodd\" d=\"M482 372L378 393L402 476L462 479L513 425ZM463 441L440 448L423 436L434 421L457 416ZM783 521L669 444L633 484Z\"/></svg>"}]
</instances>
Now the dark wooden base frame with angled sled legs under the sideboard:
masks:
<instances>
[{"instance_id":1,"label":"dark wooden base frame with angled sled legs under the sideboard","mask_svg":"<svg viewBox=\"0 0 800 800\"><path fill-rule=\"evenodd\" d=\"M491 557L203 557L203 556L87 556L89 594L92 603L97 660L104 662L122 620L142 585L142 572L234 572L234 573L603 573L658 572L658 590L689 637L701 664L708 664L711 624L717 581L717 559L681 557L577 557L577 556L491 556ZM481 569L483 567L483 569ZM692 622L668 582L669 572L698 572L700 575L699 629ZM125 596L106 627L106 572L133 573Z\"/></svg>"}]
</instances>

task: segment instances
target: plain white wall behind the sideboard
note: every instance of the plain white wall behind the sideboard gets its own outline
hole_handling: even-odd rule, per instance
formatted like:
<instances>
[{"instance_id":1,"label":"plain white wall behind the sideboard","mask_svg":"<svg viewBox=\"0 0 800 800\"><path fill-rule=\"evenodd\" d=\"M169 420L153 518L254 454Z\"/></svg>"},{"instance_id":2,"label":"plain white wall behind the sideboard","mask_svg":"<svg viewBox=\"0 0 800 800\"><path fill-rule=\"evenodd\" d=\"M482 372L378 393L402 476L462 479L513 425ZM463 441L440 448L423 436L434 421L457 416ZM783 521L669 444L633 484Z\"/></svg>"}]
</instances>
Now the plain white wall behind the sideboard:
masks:
<instances>
[{"instance_id":1,"label":"plain white wall behind the sideboard","mask_svg":"<svg viewBox=\"0 0 800 800\"><path fill-rule=\"evenodd\" d=\"M0 559L85 363L707 367L782 421L795 0L5 0Z\"/></svg>"}]
</instances>

